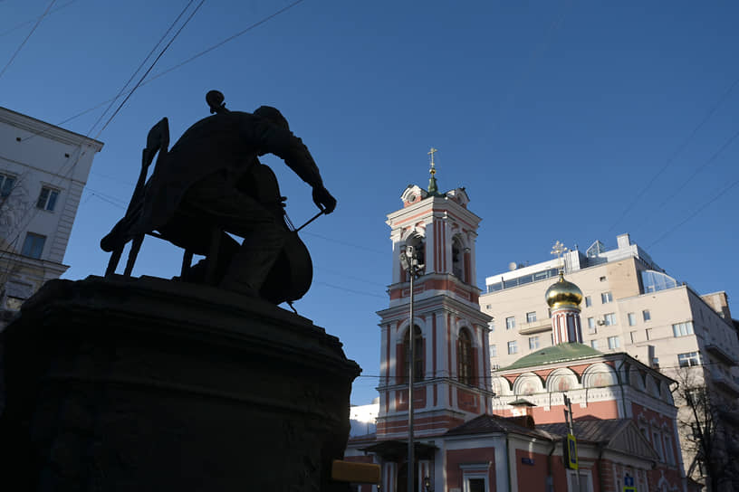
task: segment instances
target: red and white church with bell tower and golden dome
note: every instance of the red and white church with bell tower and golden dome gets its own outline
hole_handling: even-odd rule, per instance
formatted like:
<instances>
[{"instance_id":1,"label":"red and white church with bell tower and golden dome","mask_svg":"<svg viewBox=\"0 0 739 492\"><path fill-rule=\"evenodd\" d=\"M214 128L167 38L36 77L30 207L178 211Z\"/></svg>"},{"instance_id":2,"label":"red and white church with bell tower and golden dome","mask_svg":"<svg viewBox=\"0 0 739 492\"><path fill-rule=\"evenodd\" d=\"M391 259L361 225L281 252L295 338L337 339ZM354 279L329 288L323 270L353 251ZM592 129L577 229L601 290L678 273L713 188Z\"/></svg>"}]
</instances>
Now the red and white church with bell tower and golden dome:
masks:
<instances>
[{"instance_id":1,"label":"red and white church with bell tower and golden dome","mask_svg":"<svg viewBox=\"0 0 739 492\"><path fill-rule=\"evenodd\" d=\"M435 151L428 189L408 185L388 215L377 427L350 439L345 454L379 464L382 482L360 490L407 492L412 474L417 492L687 492L674 382L629 355L582 345L582 295L562 276L547 292L556 345L491 376L491 317L475 279L481 218L465 188L439 193Z\"/></svg>"}]
</instances>

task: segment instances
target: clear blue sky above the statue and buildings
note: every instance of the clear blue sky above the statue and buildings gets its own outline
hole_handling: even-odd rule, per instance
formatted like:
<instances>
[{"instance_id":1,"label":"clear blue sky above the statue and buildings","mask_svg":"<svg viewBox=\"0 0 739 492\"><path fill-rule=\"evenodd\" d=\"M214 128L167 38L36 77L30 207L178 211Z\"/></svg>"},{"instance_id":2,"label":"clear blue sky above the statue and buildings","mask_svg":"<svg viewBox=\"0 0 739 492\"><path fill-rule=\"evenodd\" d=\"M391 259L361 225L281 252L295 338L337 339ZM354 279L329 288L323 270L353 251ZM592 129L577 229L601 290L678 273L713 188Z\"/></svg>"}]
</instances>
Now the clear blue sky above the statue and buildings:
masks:
<instances>
[{"instance_id":1,"label":"clear blue sky above the statue and buildings","mask_svg":"<svg viewBox=\"0 0 739 492\"><path fill-rule=\"evenodd\" d=\"M57 0L0 77L0 106L60 123L110 99L186 4ZM0 0L0 67L48 5ZM151 75L287 5L207 0ZM133 94L99 137L65 277L103 272L98 243L130 199L149 127L168 116L174 141L218 89L230 109L281 109L339 200L302 235L315 278L296 307L362 366L353 403L376 395L385 215L408 184L427 186L432 146L439 186L465 186L483 218L481 285L510 261L552 258L554 241L612 248L630 232L678 280L726 290L739 317L739 143L711 160L739 131L739 87L727 93L738 17L733 2L304 0ZM62 127L87 134L103 109ZM266 162L293 222L309 218L308 186ZM134 273L171 277L180 259L149 239Z\"/></svg>"}]
</instances>

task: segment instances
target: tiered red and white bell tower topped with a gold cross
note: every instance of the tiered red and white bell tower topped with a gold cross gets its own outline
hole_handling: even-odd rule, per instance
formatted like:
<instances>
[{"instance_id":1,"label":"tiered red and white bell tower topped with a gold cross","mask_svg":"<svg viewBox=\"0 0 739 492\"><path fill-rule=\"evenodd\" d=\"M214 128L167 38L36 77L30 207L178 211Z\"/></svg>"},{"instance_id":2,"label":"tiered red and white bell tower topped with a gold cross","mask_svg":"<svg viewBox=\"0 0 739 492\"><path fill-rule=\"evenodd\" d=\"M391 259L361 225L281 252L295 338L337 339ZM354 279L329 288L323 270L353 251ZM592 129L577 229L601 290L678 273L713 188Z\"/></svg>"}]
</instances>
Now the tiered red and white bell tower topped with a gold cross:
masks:
<instances>
[{"instance_id":1,"label":"tiered red and white bell tower topped with a gold cross","mask_svg":"<svg viewBox=\"0 0 739 492\"><path fill-rule=\"evenodd\" d=\"M465 188L439 193L432 148L428 189L408 185L400 210L389 213L392 283L382 330L378 440L408 436L408 364L414 364L414 434L423 439L490 412L488 323L480 311L475 238L481 219L467 209ZM401 255L417 258L414 360L408 360L411 295Z\"/></svg>"}]
</instances>

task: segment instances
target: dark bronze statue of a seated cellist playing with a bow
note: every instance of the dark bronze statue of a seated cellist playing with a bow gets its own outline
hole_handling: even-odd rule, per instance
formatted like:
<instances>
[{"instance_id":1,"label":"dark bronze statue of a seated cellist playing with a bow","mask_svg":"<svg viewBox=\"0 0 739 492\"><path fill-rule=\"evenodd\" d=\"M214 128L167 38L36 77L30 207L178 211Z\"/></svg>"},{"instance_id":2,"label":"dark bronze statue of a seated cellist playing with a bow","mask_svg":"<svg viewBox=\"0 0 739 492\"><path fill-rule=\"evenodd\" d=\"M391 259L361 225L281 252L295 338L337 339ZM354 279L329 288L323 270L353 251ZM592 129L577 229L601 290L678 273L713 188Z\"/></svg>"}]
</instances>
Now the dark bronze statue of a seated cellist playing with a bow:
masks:
<instances>
[{"instance_id":1,"label":"dark bronze statue of a seated cellist playing with a bow","mask_svg":"<svg viewBox=\"0 0 739 492\"><path fill-rule=\"evenodd\" d=\"M279 110L229 111L217 90L206 95L213 116L197 121L168 150L168 120L149 131L141 174L125 216L101 240L112 251L106 271L116 269L132 241L130 275L145 234L186 250L180 279L209 283L276 304L301 298L312 281L310 254L286 221L285 197L258 156L281 157L312 186L313 202L331 213L336 200L302 140ZM148 168L157 163L149 180ZM226 232L244 238L241 245ZM193 254L206 256L195 267Z\"/></svg>"}]
</instances>

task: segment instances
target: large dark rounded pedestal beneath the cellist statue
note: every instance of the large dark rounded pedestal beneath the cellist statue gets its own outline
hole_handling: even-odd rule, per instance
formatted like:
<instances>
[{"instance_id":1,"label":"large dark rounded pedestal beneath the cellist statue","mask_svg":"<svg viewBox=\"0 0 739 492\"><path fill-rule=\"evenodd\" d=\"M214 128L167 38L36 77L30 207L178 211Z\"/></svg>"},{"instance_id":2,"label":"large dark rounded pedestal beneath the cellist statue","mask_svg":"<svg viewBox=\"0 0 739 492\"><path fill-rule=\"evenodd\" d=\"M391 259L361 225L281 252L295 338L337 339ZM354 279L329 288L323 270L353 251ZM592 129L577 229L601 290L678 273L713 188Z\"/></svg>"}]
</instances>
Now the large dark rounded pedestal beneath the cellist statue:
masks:
<instances>
[{"instance_id":1,"label":"large dark rounded pedestal beneath the cellist statue","mask_svg":"<svg viewBox=\"0 0 739 492\"><path fill-rule=\"evenodd\" d=\"M349 489L331 460L360 367L308 319L171 280L53 280L3 345L16 490Z\"/></svg>"}]
</instances>

